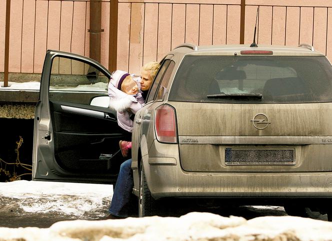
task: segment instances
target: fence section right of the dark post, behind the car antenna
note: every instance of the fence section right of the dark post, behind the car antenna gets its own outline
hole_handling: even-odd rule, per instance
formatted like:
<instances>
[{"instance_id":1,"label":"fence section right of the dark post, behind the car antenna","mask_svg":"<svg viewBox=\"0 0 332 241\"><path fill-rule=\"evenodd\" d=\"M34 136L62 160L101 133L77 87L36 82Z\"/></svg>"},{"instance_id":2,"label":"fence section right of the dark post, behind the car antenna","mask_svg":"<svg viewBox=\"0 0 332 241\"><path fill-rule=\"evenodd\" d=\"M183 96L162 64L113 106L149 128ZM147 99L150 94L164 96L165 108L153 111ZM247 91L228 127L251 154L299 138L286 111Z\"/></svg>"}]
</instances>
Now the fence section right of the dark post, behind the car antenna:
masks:
<instances>
[{"instance_id":1,"label":"fence section right of the dark post, behind the car antenna","mask_svg":"<svg viewBox=\"0 0 332 241\"><path fill-rule=\"evenodd\" d=\"M253 31L252 12L258 7L258 43L280 45L308 43L332 57L332 4L330 5L247 4L245 42L252 41L249 34L250 30Z\"/></svg>"}]
</instances>

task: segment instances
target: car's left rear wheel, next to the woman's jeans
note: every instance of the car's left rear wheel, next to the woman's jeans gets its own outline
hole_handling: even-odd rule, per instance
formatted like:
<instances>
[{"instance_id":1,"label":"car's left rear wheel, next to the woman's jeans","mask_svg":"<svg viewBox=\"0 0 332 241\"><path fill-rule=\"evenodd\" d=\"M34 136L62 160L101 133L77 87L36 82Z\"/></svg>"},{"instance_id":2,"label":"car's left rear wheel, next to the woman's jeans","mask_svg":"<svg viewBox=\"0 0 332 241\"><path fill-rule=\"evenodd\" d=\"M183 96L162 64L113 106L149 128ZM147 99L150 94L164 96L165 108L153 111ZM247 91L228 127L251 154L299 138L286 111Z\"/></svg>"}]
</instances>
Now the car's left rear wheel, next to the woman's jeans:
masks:
<instances>
[{"instance_id":1,"label":"car's left rear wheel, next to the woman's jeans","mask_svg":"<svg viewBox=\"0 0 332 241\"><path fill-rule=\"evenodd\" d=\"M156 215L156 201L152 198L145 180L143 165L141 164L139 178L138 217Z\"/></svg>"}]
</instances>

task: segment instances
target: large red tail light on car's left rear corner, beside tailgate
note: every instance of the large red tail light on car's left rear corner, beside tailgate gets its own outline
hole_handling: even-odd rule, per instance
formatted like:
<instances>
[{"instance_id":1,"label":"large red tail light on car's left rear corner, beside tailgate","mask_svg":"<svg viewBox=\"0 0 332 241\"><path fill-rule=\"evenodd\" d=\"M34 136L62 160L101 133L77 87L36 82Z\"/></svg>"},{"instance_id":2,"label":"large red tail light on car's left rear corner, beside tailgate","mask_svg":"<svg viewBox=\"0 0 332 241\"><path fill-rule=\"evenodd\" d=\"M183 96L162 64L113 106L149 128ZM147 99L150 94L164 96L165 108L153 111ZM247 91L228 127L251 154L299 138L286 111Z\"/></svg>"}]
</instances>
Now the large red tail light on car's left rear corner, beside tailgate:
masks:
<instances>
[{"instance_id":1,"label":"large red tail light on car's left rear corner, beside tailgate","mask_svg":"<svg viewBox=\"0 0 332 241\"><path fill-rule=\"evenodd\" d=\"M175 110L170 105L160 105L154 115L155 135L159 142L177 143Z\"/></svg>"}]
</instances>

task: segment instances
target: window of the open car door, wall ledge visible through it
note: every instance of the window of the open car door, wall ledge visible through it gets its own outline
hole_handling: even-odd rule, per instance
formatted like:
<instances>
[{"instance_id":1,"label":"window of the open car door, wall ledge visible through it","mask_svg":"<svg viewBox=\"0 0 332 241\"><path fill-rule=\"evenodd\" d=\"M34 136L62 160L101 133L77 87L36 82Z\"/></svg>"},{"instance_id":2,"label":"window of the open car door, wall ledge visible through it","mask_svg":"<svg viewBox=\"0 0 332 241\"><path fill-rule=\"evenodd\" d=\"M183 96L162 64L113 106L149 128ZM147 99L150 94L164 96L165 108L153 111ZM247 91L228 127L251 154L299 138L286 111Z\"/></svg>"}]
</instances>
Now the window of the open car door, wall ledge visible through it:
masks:
<instances>
[{"instance_id":1,"label":"window of the open car door, wall ledge visible through it","mask_svg":"<svg viewBox=\"0 0 332 241\"><path fill-rule=\"evenodd\" d=\"M49 79L49 100L88 105L96 95L107 94L108 78L79 60L54 57Z\"/></svg>"}]
</instances>

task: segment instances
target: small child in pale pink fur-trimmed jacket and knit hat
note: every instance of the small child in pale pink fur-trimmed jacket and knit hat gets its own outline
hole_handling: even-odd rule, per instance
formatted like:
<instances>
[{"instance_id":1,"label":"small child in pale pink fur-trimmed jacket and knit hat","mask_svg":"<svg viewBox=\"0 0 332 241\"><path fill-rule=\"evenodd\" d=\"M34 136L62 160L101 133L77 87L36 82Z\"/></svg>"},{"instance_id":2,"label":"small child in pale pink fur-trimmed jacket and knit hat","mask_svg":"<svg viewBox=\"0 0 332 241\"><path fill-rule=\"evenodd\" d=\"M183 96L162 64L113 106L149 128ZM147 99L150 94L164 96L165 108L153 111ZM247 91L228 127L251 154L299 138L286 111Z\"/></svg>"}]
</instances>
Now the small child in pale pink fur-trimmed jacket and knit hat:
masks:
<instances>
[{"instance_id":1,"label":"small child in pale pink fur-trimmed jacket and knit hat","mask_svg":"<svg viewBox=\"0 0 332 241\"><path fill-rule=\"evenodd\" d=\"M112 73L108 83L109 108L116 110L117 124L122 129L132 132L133 121L130 119L144 104L140 84L132 75L122 70ZM131 142L119 141L122 156L126 157Z\"/></svg>"}]
</instances>

